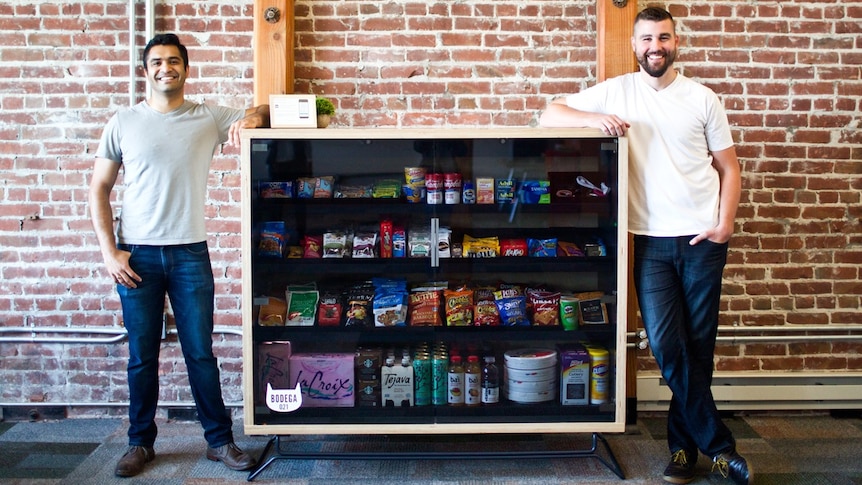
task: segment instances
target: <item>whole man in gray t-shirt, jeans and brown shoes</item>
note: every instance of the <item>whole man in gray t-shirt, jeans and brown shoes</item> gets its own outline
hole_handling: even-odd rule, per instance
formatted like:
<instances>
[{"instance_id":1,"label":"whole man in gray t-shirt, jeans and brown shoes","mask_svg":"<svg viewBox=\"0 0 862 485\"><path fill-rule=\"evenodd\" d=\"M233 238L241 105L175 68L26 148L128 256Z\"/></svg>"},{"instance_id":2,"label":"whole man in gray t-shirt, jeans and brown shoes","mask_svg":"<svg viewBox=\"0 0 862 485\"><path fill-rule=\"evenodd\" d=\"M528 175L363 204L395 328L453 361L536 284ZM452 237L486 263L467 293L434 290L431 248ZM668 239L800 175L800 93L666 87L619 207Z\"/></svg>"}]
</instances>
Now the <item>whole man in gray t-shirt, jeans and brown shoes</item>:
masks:
<instances>
[{"instance_id":1,"label":"whole man in gray t-shirt, jeans and brown shoes","mask_svg":"<svg viewBox=\"0 0 862 485\"><path fill-rule=\"evenodd\" d=\"M215 150L238 143L243 128L269 126L269 107L241 110L186 101L188 51L174 34L157 35L147 44L143 67L152 94L108 122L89 193L93 228L117 284L129 336L129 448L115 473L137 475L155 458L165 295L204 428L206 457L247 470L255 460L234 444L212 352L215 285L204 207ZM125 190L115 238L110 197L120 167Z\"/></svg>"}]
</instances>

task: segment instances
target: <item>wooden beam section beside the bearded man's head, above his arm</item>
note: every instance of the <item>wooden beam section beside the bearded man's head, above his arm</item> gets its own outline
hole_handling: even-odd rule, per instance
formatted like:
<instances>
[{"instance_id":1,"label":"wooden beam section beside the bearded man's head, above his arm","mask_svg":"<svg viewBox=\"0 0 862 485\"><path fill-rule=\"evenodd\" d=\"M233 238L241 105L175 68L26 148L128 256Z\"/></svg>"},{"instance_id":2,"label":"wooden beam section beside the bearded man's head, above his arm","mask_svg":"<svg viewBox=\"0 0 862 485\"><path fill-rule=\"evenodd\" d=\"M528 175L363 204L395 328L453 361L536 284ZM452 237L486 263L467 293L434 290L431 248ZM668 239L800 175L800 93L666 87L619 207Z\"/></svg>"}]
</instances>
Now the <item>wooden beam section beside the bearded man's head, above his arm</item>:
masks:
<instances>
[{"instance_id":1,"label":"wooden beam section beside the bearded man's head, above his arm","mask_svg":"<svg viewBox=\"0 0 862 485\"><path fill-rule=\"evenodd\" d=\"M598 82L633 72L637 62L632 54L632 25L637 15L637 0L617 7L613 0L597 0L598 40L596 77Z\"/></svg>"}]
</instances>

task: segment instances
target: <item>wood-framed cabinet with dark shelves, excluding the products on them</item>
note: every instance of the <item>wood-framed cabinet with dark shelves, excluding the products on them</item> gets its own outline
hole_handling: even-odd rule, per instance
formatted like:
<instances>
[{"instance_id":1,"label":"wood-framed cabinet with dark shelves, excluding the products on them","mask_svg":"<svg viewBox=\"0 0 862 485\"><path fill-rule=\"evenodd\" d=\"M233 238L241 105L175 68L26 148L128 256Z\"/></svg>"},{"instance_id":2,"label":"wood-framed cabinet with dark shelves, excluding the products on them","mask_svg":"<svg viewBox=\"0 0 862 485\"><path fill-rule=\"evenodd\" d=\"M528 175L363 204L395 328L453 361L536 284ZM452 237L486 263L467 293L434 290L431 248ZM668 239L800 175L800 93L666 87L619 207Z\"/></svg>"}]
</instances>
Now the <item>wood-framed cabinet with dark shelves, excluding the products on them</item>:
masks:
<instances>
[{"instance_id":1,"label":"wood-framed cabinet with dark shelves, excluding the products on them","mask_svg":"<svg viewBox=\"0 0 862 485\"><path fill-rule=\"evenodd\" d=\"M627 145L625 138L598 130L571 129L256 129L242 133L242 278L244 417L247 434L389 434L389 433L577 433L621 432L625 428L625 329L628 291ZM332 176L367 184L375 179L404 180L405 168L428 173L458 173L464 180L547 181L549 204L520 201L494 204L410 203L405 198L263 198L260 183ZM372 173L373 172L373 173ZM585 176L606 183L606 196L593 197L573 187ZM566 185L568 184L568 185ZM496 187L495 187L496 188ZM515 189L517 193L517 188ZM496 192L495 192L496 195ZM567 197L567 198L566 198ZM499 199L498 199L499 200ZM415 228L451 230L451 243L496 236L500 239L546 239L583 245L604 243L606 256L489 258L264 258L258 255L259 230L280 222L291 231L289 245L304 236L333 229L379 227L391 220ZM435 247L436 242L431 247ZM408 253L409 254L409 253ZM590 253L597 254L597 253ZM408 288L444 282L450 289L475 285L517 284L552 288L563 294L596 292L607 304L608 324L561 326L399 326L357 328L261 326L263 297L283 298L288 285L314 282L321 293L350 287L374 277L406 282ZM489 283L493 282L493 283ZM332 291L334 292L334 291ZM436 311L444 312L441 304ZM370 307L369 307L370 308ZM411 307L410 311L413 309ZM556 309L555 311L559 311ZM409 321L409 320L408 320ZM445 315L444 315L445 321ZM530 316L530 322L542 321ZM275 412L260 396L259 353L263 345L289 342L294 354L353 355L375 347L413 352L426 345L449 351L478 349L493 355L501 378L500 403L493 406L301 406ZM562 351L588 342L607 351L607 401L563 403L559 362L549 379L551 400L519 404L506 397L506 352L537 348ZM472 351L471 351L472 352ZM401 355L399 353L399 355ZM547 370L548 368L543 368ZM354 370L359 380L359 370ZM298 380L298 379L297 379ZM265 388L265 386L264 386ZM281 389L292 389L282 387ZM512 390L515 388L512 387ZM525 391L519 390L523 393ZM518 399L519 401L528 399ZM600 400L599 400L600 401ZM438 401L439 402L439 401Z\"/></svg>"}]
</instances>

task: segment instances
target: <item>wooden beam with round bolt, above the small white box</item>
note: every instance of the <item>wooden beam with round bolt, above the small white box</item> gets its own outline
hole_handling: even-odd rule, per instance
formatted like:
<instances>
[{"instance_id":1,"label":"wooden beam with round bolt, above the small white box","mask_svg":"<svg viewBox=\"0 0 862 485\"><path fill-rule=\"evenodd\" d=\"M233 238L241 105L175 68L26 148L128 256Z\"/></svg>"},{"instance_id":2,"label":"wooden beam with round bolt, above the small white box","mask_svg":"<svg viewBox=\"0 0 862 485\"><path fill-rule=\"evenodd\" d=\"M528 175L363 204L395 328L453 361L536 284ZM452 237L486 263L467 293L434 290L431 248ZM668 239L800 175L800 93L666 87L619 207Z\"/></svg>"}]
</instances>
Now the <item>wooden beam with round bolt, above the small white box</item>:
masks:
<instances>
[{"instance_id":1,"label":"wooden beam with round bolt, above the small white box","mask_svg":"<svg viewBox=\"0 0 862 485\"><path fill-rule=\"evenodd\" d=\"M293 0L254 0L254 104L293 92Z\"/></svg>"}]
</instances>

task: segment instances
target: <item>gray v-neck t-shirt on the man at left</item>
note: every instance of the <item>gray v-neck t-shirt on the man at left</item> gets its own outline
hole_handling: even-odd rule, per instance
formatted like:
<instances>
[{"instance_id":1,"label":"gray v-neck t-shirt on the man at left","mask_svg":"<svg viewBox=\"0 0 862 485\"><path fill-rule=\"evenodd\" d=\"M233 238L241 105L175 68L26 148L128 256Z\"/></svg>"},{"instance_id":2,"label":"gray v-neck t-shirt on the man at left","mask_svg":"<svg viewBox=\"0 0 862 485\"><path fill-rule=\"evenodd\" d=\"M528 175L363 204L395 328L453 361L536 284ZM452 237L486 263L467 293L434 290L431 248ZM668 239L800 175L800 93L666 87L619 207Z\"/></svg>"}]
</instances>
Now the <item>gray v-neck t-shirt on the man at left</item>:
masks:
<instances>
[{"instance_id":1,"label":"gray v-neck t-shirt on the man at left","mask_svg":"<svg viewBox=\"0 0 862 485\"><path fill-rule=\"evenodd\" d=\"M210 163L245 111L186 101L170 113L146 102L108 121L96 157L123 164L117 241L166 246L206 240Z\"/></svg>"}]
</instances>

